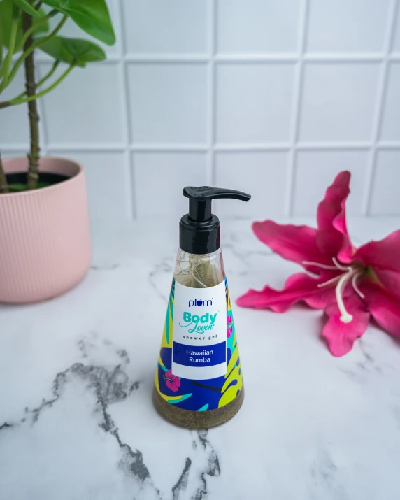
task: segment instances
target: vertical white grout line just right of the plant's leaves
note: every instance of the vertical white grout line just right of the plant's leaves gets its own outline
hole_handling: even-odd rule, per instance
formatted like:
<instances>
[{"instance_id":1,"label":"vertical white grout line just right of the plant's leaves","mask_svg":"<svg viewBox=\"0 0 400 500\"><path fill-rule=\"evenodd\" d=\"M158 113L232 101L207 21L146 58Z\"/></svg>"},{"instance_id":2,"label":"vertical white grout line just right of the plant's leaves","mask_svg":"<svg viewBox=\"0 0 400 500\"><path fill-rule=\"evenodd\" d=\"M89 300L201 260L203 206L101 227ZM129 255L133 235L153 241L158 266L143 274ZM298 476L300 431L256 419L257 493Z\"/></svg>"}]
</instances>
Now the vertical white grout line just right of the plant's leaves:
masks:
<instances>
[{"instance_id":1,"label":"vertical white grout line just right of the plant's leaves","mask_svg":"<svg viewBox=\"0 0 400 500\"><path fill-rule=\"evenodd\" d=\"M122 86L122 106L124 107L124 176L127 182L125 185L125 210L127 217L129 219L137 219L137 207L135 200L135 179L134 179L134 161L133 154L131 152L131 141L133 141L133 124L131 120L131 110L130 110L130 95L129 95L129 79L127 71L127 61L124 57L126 53L127 43L125 38L124 29L124 6L122 5L122 0L117 3L117 17L118 25L120 29L121 36L121 50L120 50L120 79Z\"/></svg>"}]
</instances>

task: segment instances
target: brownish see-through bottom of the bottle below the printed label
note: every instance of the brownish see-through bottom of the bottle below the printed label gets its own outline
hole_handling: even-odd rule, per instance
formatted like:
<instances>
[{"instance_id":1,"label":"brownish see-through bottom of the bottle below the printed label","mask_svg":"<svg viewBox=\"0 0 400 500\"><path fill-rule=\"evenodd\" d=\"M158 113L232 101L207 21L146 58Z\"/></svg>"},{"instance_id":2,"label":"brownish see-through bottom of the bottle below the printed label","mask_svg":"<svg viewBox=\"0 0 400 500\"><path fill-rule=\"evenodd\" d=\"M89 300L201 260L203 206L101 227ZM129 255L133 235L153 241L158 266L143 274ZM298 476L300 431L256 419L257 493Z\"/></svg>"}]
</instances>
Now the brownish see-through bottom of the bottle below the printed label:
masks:
<instances>
[{"instance_id":1,"label":"brownish see-through bottom of the bottle below the printed label","mask_svg":"<svg viewBox=\"0 0 400 500\"><path fill-rule=\"evenodd\" d=\"M217 427L231 420L238 410L241 409L244 399L244 388L236 396L236 398L221 408L208 411L190 411L178 408L171 403L167 403L163 399L156 388L152 393L152 401L157 412L172 424L185 429L208 429L209 427Z\"/></svg>"}]
</instances>

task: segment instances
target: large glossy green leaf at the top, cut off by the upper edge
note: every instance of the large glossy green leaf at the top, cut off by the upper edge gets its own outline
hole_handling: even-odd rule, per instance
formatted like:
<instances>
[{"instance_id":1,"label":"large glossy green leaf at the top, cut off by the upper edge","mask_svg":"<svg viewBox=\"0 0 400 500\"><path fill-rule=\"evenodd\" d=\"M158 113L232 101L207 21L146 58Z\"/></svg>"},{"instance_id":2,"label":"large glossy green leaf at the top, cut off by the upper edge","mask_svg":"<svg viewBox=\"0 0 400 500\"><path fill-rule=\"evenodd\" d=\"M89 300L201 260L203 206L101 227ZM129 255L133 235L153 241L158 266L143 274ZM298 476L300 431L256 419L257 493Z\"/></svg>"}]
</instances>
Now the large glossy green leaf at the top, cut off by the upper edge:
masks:
<instances>
[{"instance_id":1,"label":"large glossy green leaf at the top, cut off by the upper edge","mask_svg":"<svg viewBox=\"0 0 400 500\"><path fill-rule=\"evenodd\" d=\"M44 2L69 15L88 35L107 45L114 45L115 33L106 0L44 0Z\"/></svg>"}]
</instances>

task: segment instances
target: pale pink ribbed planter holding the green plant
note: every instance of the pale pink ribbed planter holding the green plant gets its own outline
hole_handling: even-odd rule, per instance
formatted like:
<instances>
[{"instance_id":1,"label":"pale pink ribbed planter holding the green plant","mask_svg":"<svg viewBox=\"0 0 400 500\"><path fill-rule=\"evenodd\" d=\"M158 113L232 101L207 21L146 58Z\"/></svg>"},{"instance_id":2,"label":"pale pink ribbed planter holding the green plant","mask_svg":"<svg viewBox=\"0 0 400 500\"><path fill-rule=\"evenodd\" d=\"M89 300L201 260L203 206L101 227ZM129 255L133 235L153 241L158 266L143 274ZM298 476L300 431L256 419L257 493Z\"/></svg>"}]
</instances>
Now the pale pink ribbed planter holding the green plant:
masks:
<instances>
[{"instance_id":1,"label":"pale pink ribbed planter holding the green plant","mask_svg":"<svg viewBox=\"0 0 400 500\"><path fill-rule=\"evenodd\" d=\"M6 173L27 170L27 158L3 159ZM0 194L0 302L56 297L83 279L92 262L85 172L76 162L45 157L40 170L62 183Z\"/></svg>"}]
</instances>

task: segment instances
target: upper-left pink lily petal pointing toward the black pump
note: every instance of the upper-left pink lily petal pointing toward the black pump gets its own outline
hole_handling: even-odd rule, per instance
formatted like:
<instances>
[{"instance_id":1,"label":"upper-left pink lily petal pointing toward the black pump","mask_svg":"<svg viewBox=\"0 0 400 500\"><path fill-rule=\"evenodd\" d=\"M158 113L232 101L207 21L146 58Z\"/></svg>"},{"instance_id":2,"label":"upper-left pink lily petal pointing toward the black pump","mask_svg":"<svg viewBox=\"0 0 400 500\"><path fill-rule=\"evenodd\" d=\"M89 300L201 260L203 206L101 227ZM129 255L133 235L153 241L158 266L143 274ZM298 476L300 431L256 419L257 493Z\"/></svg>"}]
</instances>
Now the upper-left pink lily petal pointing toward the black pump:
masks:
<instances>
[{"instance_id":1,"label":"upper-left pink lily petal pointing toward the black pump","mask_svg":"<svg viewBox=\"0 0 400 500\"><path fill-rule=\"evenodd\" d=\"M293 224L276 224L272 220L254 222L252 230L257 238L284 259L297 262L313 273L319 274L320 268L304 265L303 262L318 262L332 266L331 258L336 254L324 255L317 246L317 229Z\"/></svg>"}]
</instances>

